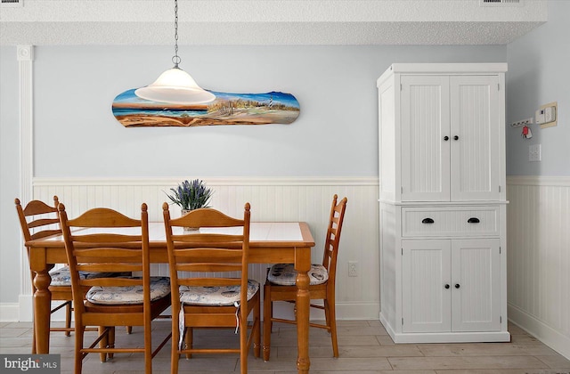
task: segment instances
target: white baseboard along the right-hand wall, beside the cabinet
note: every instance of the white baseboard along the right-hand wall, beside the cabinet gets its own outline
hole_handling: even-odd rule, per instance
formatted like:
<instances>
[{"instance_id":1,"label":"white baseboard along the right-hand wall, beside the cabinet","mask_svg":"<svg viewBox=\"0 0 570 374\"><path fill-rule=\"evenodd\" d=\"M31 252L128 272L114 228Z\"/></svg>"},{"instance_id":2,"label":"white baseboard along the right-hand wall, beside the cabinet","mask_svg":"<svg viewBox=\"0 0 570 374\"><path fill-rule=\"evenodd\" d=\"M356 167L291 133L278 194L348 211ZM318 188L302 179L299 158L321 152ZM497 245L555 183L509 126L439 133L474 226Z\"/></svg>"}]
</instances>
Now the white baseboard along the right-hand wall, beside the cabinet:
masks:
<instances>
[{"instance_id":1,"label":"white baseboard along the right-hand wall, beside the cabinet","mask_svg":"<svg viewBox=\"0 0 570 374\"><path fill-rule=\"evenodd\" d=\"M550 346L558 354L562 354L566 359L570 360L570 337L566 337L556 329L552 329L543 321L536 319L529 313L525 313L515 305L509 304L508 308L510 322L524 329L545 345Z\"/></svg>"}]
</instances>

